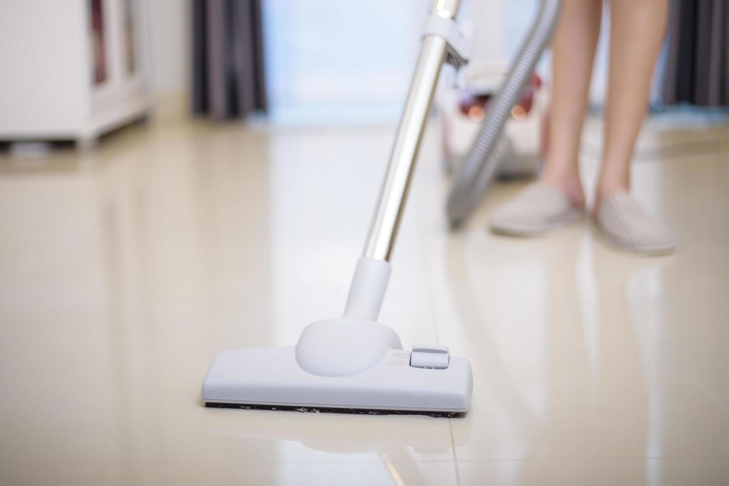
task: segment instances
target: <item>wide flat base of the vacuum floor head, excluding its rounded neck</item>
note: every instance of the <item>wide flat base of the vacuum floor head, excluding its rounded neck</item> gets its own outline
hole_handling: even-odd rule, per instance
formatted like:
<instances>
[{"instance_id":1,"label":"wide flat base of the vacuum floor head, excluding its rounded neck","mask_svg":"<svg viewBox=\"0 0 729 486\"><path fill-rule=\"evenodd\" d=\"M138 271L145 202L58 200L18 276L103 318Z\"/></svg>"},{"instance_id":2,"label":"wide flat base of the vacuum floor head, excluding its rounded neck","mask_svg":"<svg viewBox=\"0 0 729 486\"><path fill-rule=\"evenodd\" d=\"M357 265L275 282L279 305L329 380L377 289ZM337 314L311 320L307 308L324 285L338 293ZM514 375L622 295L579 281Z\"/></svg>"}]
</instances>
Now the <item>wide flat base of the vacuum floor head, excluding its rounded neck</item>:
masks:
<instances>
[{"instance_id":1,"label":"wide flat base of the vacuum floor head, excluding its rounded neck","mask_svg":"<svg viewBox=\"0 0 729 486\"><path fill-rule=\"evenodd\" d=\"M445 348L414 349L386 350L374 366L349 376L305 371L297 362L294 346L227 350L208 369L203 401L206 406L298 412L444 417L466 412L473 387L468 361L451 358ZM435 361L445 368L413 366L438 366Z\"/></svg>"}]
</instances>

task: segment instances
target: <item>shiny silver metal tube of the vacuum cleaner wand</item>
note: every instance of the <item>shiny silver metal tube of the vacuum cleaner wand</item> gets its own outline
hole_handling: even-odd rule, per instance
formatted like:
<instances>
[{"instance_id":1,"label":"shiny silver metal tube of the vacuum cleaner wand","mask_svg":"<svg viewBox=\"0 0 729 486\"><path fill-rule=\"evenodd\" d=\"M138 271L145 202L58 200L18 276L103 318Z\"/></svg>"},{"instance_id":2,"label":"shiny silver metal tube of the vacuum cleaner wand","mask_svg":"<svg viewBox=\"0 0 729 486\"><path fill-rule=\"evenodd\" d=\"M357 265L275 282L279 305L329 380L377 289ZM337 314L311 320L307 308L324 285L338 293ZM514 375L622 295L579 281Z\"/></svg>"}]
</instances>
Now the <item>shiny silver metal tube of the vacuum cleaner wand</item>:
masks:
<instances>
[{"instance_id":1,"label":"shiny silver metal tube of the vacuum cleaner wand","mask_svg":"<svg viewBox=\"0 0 729 486\"><path fill-rule=\"evenodd\" d=\"M437 0L432 11L444 18L455 18L459 1ZM364 256L390 259L446 48L445 40L438 36L423 39Z\"/></svg>"}]
</instances>

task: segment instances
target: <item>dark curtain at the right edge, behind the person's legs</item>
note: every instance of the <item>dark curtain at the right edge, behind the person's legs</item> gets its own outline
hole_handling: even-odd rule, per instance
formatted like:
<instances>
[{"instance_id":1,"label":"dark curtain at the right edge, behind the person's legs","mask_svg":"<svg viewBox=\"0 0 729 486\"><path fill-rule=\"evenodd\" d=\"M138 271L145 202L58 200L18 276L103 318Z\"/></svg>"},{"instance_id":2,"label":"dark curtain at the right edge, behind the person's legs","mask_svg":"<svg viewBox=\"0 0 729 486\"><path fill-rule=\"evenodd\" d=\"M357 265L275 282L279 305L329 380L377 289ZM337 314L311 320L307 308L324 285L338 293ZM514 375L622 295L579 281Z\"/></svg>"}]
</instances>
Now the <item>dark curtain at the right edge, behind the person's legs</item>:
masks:
<instances>
[{"instance_id":1,"label":"dark curtain at the right edge, behind the person's legs","mask_svg":"<svg viewBox=\"0 0 729 486\"><path fill-rule=\"evenodd\" d=\"M729 105L729 1L671 0L663 101Z\"/></svg>"}]
</instances>

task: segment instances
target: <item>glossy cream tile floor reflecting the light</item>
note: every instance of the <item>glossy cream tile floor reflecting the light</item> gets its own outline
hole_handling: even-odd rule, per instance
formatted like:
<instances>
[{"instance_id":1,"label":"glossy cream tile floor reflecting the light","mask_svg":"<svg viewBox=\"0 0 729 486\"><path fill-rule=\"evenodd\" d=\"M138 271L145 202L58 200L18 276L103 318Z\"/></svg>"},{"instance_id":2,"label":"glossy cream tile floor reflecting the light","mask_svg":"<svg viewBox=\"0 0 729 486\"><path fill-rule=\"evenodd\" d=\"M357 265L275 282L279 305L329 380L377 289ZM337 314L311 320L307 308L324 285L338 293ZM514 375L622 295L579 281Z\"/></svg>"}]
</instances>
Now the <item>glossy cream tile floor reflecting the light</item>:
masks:
<instances>
[{"instance_id":1,"label":"glossy cream tile floor reflecting the light","mask_svg":"<svg viewBox=\"0 0 729 486\"><path fill-rule=\"evenodd\" d=\"M0 155L0 483L729 484L726 122L642 134L634 193L680 243L661 258L588 225L488 234L523 182L449 232L429 137L381 321L471 360L464 416L202 406L219 350L340 314L392 137L168 120Z\"/></svg>"}]
</instances>

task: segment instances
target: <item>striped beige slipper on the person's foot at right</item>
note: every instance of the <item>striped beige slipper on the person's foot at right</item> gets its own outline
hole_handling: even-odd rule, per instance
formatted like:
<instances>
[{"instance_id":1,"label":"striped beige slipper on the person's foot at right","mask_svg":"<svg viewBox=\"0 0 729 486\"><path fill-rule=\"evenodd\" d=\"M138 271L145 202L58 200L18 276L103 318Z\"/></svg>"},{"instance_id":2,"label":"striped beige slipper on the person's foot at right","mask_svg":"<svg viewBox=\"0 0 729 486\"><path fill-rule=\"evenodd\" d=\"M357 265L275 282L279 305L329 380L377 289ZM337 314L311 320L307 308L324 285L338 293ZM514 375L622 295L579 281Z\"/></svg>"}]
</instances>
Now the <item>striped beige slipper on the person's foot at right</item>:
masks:
<instances>
[{"instance_id":1,"label":"striped beige slipper on the person's foot at right","mask_svg":"<svg viewBox=\"0 0 729 486\"><path fill-rule=\"evenodd\" d=\"M595 223L602 239L620 250L663 255L676 249L676 240L666 225L623 191L612 193L600 202Z\"/></svg>"}]
</instances>

